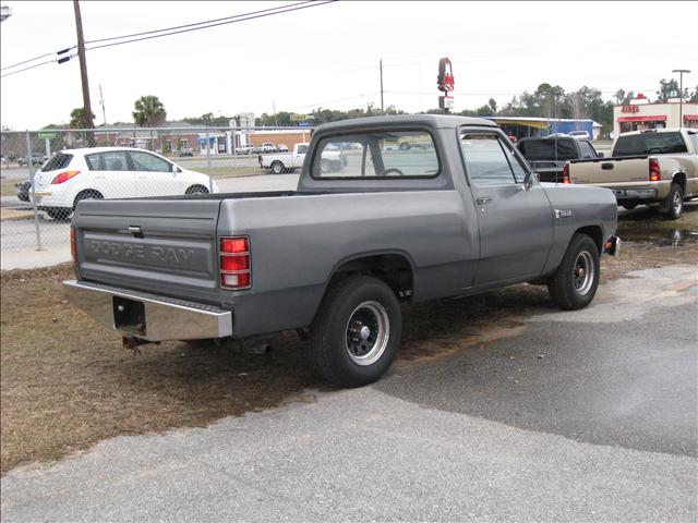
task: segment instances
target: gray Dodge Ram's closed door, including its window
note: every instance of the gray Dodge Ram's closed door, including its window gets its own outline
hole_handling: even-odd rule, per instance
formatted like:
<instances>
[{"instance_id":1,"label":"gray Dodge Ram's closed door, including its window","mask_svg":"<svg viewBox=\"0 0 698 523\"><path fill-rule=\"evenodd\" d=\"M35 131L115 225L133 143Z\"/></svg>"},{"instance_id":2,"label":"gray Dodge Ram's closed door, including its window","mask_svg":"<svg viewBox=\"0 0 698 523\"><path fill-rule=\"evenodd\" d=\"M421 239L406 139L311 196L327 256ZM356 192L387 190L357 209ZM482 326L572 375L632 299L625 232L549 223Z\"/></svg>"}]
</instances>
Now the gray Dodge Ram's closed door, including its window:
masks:
<instances>
[{"instance_id":1,"label":"gray Dodge Ram's closed door, including its window","mask_svg":"<svg viewBox=\"0 0 698 523\"><path fill-rule=\"evenodd\" d=\"M534 180L526 190L526 168L498 133L464 131L465 169L480 229L476 287L541 273L553 241L547 195Z\"/></svg>"}]
</instances>

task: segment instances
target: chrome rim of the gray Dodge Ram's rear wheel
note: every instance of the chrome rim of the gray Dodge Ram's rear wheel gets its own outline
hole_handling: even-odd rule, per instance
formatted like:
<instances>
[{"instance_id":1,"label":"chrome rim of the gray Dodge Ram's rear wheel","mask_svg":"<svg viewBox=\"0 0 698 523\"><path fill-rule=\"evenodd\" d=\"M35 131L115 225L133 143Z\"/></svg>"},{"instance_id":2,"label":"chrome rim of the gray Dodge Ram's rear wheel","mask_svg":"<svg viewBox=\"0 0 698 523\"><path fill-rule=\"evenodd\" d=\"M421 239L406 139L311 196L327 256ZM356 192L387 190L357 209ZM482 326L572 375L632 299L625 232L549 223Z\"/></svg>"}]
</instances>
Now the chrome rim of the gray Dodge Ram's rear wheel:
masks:
<instances>
[{"instance_id":1,"label":"chrome rim of the gray Dodge Ram's rear wheel","mask_svg":"<svg viewBox=\"0 0 698 523\"><path fill-rule=\"evenodd\" d=\"M349 316L345 346L357 365L377 362L388 346L389 338L388 313L378 302L363 302Z\"/></svg>"}]
</instances>

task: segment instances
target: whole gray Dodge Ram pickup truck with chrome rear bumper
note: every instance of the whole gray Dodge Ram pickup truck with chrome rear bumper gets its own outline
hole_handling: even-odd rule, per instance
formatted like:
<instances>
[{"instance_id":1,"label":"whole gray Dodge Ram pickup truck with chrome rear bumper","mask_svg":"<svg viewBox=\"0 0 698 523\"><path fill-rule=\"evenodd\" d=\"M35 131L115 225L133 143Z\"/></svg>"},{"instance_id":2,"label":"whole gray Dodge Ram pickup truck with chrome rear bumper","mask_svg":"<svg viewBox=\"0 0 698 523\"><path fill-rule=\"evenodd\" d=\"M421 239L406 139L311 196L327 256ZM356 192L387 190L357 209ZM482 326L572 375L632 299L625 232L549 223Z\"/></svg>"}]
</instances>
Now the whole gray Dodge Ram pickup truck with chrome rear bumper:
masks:
<instances>
[{"instance_id":1,"label":"whole gray Dodge Ram pickup truck with chrome rear bumper","mask_svg":"<svg viewBox=\"0 0 698 523\"><path fill-rule=\"evenodd\" d=\"M611 191L539 183L492 122L364 118L317 127L294 192L81 202L64 290L129 345L297 329L356 387L390 366L402 304L529 281L588 305L615 229Z\"/></svg>"}]
</instances>

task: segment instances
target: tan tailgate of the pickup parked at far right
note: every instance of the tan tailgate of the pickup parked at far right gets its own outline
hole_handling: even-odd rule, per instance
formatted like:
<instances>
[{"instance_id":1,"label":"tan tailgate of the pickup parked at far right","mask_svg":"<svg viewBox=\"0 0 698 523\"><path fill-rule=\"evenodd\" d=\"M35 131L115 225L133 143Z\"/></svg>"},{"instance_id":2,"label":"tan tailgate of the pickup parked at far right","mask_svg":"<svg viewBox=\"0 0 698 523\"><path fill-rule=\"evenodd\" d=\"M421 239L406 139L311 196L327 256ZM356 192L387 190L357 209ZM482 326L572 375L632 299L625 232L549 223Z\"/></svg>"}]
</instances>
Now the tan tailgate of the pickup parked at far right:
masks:
<instances>
[{"instance_id":1,"label":"tan tailgate of the pickup parked at far right","mask_svg":"<svg viewBox=\"0 0 698 523\"><path fill-rule=\"evenodd\" d=\"M649 160L647 157L571 160L569 179L571 183L593 183L600 186L649 182Z\"/></svg>"}]
</instances>

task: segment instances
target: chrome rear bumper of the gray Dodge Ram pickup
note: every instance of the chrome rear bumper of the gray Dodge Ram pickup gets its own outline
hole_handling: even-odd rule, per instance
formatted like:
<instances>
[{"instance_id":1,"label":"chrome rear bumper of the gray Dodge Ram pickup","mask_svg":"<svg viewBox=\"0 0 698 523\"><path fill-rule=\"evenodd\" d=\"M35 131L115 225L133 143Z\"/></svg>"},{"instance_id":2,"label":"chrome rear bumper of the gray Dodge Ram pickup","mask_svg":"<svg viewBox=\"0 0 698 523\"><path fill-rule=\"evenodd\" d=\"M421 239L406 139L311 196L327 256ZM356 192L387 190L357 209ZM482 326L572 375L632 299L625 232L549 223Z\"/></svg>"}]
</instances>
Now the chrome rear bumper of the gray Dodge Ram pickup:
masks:
<instances>
[{"instance_id":1,"label":"chrome rear bumper of the gray Dodge Ram pickup","mask_svg":"<svg viewBox=\"0 0 698 523\"><path fill-rule=\"evenodd\" d=\"M198 340L232 335L230 311L129 289L63 281L70 303L98 323L148 341Z\"/></svg>"}]
</instances>

